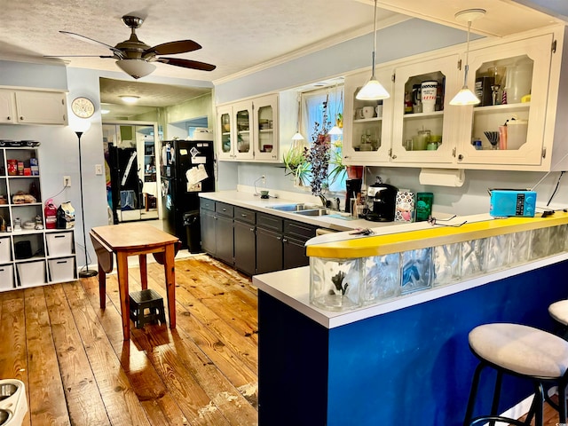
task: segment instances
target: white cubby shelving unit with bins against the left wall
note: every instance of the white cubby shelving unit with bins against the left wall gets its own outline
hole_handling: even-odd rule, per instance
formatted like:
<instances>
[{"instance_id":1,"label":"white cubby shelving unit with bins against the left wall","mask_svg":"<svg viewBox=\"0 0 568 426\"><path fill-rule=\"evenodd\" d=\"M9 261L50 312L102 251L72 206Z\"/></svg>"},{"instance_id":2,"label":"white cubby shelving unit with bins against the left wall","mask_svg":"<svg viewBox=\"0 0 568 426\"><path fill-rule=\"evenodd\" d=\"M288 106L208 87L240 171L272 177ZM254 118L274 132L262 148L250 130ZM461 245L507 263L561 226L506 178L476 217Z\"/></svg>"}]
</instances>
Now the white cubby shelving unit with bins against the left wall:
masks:
<instances>
[{"instance_id":1,"label":"white cubby shelving unit with bins against the left wall","mask_svg":"<svg viewBox=\"0 0 568 426\"><path fill-rule=\"evenodd\" d=\"M37 167L32 170L34 162ZM77 277L74 230L43 228L40 165L36 147L0 147L0 291ZM36 201L28 196L24 202L13 202L17 193L35 195ZM36 218L42 229L33 226ZM17 219L18 230L14 229Z\"/></svg>"}]
</instances>

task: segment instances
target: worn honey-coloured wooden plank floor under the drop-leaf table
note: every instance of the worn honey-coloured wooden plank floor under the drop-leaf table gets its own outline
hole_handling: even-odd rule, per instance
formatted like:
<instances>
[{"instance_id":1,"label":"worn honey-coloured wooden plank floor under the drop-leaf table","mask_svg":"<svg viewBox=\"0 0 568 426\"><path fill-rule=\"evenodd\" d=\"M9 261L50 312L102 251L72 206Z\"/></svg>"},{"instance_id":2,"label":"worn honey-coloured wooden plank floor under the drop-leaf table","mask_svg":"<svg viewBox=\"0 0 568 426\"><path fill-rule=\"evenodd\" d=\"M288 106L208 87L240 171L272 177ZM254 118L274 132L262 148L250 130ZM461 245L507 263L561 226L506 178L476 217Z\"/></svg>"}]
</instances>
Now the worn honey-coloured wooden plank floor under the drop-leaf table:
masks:
<instances>
[{"instance_id":1,"label":"worn honey-coloured wooden plank floor under the drop-leaf table","mask_svg":"<svg viewBox=\"0 0 568 426\"><path fill-rule=\"evenodd\" d=\"M165 300L162 277L148 264ZM0 293L0 378L26 383L23 424L257 424L256 289L206 255L177 260L176 281L177 328L131 327L126 343L116 275L104 311L97 278Z\"/></svg>"}]
</instances>

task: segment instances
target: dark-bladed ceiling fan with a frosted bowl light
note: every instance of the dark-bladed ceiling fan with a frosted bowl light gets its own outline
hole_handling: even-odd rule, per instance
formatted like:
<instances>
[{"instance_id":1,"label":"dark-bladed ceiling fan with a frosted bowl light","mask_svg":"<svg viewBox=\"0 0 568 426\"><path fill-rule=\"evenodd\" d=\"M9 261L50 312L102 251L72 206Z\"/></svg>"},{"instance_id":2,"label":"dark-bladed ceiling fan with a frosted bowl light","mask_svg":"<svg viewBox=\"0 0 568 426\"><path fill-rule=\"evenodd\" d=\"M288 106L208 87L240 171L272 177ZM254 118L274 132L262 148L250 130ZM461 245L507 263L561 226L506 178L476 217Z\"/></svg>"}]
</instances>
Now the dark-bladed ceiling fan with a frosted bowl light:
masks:
<instances>
[{"instance_id":1,"label":"dark-bladed ceiling fan with a frosted bowl light","mask_svg":"<svg viewBox=\"0 0 568 426\"><path fill-rule=\"evenodd\" d=\"M102 43L90 37L81 36L80 34L71 33L69 31L59 31L61 34L74 37L92 44L103 45L112 51L112 55L67 55L67 56L45 56L44 58L71 58L71 57L97 57L116 59L116 65L125 73L138 80L140 77L151 74L155 65L153 62L162 62L163 64L174 65L176 67L193 68L201 71L213 71L216 66L199 62L197 60L180 59L180 58L164 58L158 55L175 55L177 53L185 53L187 51L197 51L201 49L201 44L193 42L193 40L177 40L176 42L162 43L156 46L148 46L146 43L138 40L136 36L136 28L140 28L144 20L138 16L124 15L122 22L131 28L132 32L128 40L118 43L115 46Z\"/></svg>"}]
</instances>

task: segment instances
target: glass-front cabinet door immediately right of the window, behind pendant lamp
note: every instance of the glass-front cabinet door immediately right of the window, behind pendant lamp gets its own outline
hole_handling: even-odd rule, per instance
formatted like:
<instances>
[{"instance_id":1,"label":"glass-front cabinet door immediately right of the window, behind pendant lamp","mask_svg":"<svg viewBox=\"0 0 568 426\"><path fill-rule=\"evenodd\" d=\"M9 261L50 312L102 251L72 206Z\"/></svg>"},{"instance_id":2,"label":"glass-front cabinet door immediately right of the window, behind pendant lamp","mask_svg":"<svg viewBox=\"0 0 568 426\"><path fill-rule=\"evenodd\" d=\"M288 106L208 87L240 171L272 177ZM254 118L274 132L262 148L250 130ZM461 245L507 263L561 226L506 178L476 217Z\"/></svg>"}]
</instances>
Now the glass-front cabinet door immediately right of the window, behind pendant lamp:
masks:
<instances>
[{"instance_id":1,"label":"glass-front cabinet door immediately right of the window, behind pendant lamp","mask_svg":"<svg viewBox=\"0 0 568 426\"><path fill-rule=\"evenodd\" d=\"M369 71L345 77L345 112L351 111L351 114L343 117L344 164L372 165L389 162L392 70L377 69L375 75L390 93L389 99L355 98L371 76Z\"/></svg>"}]
</instances>

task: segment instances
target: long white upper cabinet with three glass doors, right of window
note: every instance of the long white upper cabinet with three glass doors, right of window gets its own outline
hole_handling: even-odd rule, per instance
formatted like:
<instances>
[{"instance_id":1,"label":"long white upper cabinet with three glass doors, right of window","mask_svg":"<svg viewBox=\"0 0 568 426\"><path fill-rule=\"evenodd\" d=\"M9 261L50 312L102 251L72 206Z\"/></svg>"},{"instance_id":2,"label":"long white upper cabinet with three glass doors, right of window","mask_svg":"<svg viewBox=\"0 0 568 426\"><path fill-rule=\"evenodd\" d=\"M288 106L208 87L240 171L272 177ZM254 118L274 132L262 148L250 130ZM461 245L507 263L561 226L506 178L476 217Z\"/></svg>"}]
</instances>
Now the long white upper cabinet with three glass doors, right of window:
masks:
<instances>
[{"instance_id":1,"label":"long white upper cabinet with three glass doors, right of window","mask_svg":"<svg viewBox=\"0 0 568 426\"><path fill-rule=\"evenodd\" d=\"M382 120L360 115L361 107L367 105L354 99L368 73L348 75L344 162L448 169L567 170L566 28L556 26L501 39L487 38L472 45L467 84L481 99L478 106L449 105L463 83L463 46L383 65L390 65L395 83L391 98L383 101ZM379 77L382 83L388 72L384 74ZM426 106L429 102L430 106Z\"/></svg>"}]
</instances>

